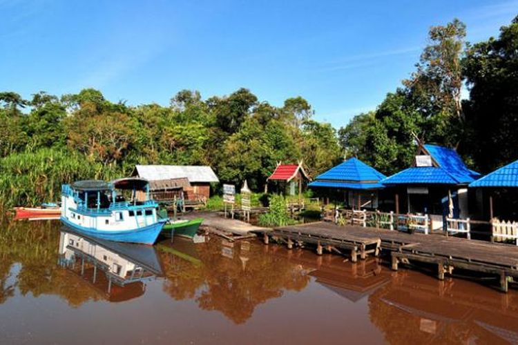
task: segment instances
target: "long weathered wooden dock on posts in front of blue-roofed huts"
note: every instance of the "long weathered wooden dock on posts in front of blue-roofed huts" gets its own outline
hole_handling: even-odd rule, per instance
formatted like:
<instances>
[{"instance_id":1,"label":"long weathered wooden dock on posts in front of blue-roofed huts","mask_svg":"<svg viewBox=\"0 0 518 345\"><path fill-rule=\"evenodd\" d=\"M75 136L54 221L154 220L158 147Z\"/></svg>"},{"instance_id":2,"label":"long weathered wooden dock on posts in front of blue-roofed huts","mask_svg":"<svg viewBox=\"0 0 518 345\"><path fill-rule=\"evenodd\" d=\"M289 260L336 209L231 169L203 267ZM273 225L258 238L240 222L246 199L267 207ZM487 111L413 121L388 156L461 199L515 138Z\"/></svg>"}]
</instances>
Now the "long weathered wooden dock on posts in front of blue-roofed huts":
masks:
<instances>
[{"instance_id":1,"label":"long weathered wooden dock on posts in front of blue-roofed huts","mask_svg":"<svg viewBox=\"0 0 518 345\"><path fill-rule=\"evenodd\" d=\"M507 292L508 282L518 278L518 247L443 235L407 234L397 230L337 226L315 222L275 228L262 232L265 243L270 239L294 246L316 245L323 250L349 255L352 262L367 255L390 255L393 270L399 264L419 262L437 266L437 277L444 279L453 270L482 273L499 278L499 286Z\"/></svg>"}]
</instances>

